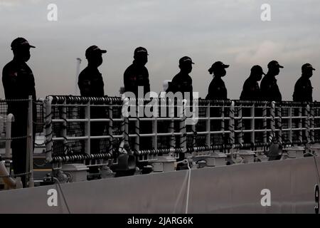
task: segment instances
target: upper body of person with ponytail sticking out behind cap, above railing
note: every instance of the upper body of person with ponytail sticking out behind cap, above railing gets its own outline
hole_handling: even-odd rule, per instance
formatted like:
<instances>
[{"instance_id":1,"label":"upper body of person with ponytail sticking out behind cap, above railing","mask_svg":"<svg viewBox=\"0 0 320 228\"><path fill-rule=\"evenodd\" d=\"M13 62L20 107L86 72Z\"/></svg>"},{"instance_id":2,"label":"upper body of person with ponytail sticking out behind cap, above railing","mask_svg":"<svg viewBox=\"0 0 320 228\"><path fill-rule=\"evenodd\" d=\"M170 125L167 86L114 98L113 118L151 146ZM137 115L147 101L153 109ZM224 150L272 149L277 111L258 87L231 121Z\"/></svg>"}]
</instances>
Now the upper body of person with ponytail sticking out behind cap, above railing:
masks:
<instances>
[{"instance_id":1,"label":"upper body of person with ponytail sticking out behind cap, above railing","mask_svg":"<svg viewBox=\"0 0 320 228\"><path fill-rule=\"evenodd\" d=\"M227 73L225 68L229 65L225 65L218 61L213 63L213 65L208 70L210 74L213 74L213 80L211 81L208 88L208 95L206 99L208 100L228 100L227 88L225 88L225 83L222 78Z\"/></svg>"}]
</instances>

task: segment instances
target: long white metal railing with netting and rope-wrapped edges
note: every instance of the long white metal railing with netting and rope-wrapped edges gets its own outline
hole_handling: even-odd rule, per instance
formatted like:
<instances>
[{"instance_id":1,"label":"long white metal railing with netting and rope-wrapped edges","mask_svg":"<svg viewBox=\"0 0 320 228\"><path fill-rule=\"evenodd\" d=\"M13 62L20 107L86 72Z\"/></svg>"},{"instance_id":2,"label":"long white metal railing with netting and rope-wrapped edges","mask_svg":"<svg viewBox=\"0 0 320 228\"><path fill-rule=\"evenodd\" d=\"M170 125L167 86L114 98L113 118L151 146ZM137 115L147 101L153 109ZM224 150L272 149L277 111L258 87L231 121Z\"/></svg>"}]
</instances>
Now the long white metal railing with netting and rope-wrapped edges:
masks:
<instances>
[{"instance_id":1,"label":"long white metal railing with netting and rope-wrapped edges","mask_svg":"<svg viewBox=\"0 0 320 228\"><path fill-rule=\"evenodd\" d=\"M320 141L320 103L195 102L198 123L186 125L184 111L178 117L124 117L122 108L128 103L122 98L49 96L46 99L47 160L58 164L56 167L76 160L98 160L97 165L101 165L119 155L121 142L129 145L138 160L152 161L166 154L178 157L179 153L215 150L229 154L230 149L268 147L273 141L280 145ZM140 106L146 108L148 100ZM159 101L156 107L159 113L161 108L168 106ZM104 126L98 135L90 134L95 123ZM90 151L92 140L100 140L99 151Z\"/></svg>"}]
</instances>

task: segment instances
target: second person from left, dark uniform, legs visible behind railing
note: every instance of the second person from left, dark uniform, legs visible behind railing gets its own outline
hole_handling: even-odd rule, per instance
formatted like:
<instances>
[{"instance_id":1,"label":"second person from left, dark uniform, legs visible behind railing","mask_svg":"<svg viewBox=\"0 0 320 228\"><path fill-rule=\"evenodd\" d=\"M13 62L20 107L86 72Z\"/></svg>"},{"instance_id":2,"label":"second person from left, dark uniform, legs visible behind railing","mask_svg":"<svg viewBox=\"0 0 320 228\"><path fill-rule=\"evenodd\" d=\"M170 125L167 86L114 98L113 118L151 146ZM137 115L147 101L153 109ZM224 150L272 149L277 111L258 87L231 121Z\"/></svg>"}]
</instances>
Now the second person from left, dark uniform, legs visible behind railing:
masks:
<instances>
[{"instance_id":1,"label":"second person from left, dark uniform, legs visible behind railing","mask_svg":"<svg viewBox=\"0 0 320 228\"><path fill-rule=\"evenodd\" d=\"M78 78L78 86L80 95L88 97L102 97L105 95L104 83L102 75L98 67L102 64L102 53L107 53L106 50L101 50L97 46L90 46L85 51L87 58L87 67L80 73ZM90 118L105 118L106 112L103 107L91 107ZM90 123L90 135L102 135L105 130L105 125L102 123ZM100 153L100 140L91 140L90 153ZM92 165L95 162L92 161ZM88 163L87 163L88 165ZM97 173L97 167L90 167L89 172Z\"/></svg>"}]
</instances>

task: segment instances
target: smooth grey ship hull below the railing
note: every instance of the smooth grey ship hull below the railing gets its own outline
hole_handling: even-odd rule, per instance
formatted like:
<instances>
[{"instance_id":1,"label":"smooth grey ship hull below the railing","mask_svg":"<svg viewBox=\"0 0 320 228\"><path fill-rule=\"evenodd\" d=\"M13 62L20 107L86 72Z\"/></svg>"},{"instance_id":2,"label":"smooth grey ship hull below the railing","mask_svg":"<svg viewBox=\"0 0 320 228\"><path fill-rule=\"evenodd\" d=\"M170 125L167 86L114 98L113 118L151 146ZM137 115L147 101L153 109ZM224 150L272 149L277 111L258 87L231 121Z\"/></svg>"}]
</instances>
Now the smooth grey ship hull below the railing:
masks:
<instances>
[{"instance_id":1,"label":"smooth grey ship hull below the railing","mask_svg":"<svg viewBox=\"0 0 320 228\"><path fill-rule=\"evenodd\" d=\"M316 162L320 164L320 157ZM72 182L61 187L71 213L185 213L187 175L188 170L182 170ZM187 210L314 213L317 181L313 157L191 170ZM57 207L48 206L50 189L58 191ZM263 189L270 190L271 206L261 204ZM2 191L0 202L1 214L68 212L57 185Z\"/></svg>"}]
</instances>

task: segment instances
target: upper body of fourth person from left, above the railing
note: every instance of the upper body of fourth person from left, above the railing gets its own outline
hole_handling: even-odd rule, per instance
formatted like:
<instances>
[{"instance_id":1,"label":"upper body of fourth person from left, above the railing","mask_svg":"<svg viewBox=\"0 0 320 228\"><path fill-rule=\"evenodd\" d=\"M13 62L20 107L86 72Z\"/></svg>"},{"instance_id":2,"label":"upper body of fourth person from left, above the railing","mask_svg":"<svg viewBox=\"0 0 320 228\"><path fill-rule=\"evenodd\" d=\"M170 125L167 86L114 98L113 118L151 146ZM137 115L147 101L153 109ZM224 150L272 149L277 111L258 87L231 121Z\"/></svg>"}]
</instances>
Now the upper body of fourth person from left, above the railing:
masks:
<instances>
[{"instance_id":1,"label":"upper body of fourth person from left, above the railing","mask_svg":"<svg viewBox=\"0 0 320 228\"><path fill-rule=\"evenodd\" d=\"M185 98L184 93L189 93L190 99L192 100L192 78L189 76L189 73L192 71L193 61L190 57L184 56L179 60L180 72L172 78L169 88L166 92L181 92L183 98Z\"/></svg>"}]
</instances>

